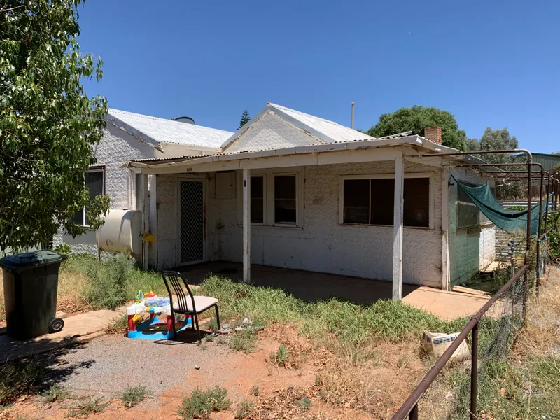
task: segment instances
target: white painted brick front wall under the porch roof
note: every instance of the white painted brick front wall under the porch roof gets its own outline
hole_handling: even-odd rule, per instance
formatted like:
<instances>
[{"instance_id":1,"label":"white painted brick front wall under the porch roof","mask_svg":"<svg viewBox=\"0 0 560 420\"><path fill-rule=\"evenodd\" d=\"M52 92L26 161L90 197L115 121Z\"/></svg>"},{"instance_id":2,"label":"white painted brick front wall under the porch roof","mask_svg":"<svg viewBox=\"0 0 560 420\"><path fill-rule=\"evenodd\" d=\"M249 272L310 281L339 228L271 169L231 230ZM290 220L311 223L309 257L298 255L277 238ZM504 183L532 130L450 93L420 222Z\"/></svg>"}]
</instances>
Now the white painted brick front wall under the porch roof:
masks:
<instances>
[{"instance_id":1,"label":"white painted brick front wall under the porch roof","mask_svg":"<svg viewBox=\"0 0 560 420\"><path fill-rule=\"evenodd\" d=\"M441 171L406 162L405 172L435 172L435 229L404 230L403 281L441 285ZM251 260L262 265L391 280L393 228L339 225L339 176L393 174L394 162L304 167L303 228L253 227ZM210 260L241 261L237 200L216 200L207 178L207 252ZM158 176L158 266L176 265L175 175ZM162 193L164 191L164 193ZM240 199L241 197L237 197ZM221 216L220 216L221 215ZM166 226L163 228L163 226Z\"/></svg>"}]
</instances>

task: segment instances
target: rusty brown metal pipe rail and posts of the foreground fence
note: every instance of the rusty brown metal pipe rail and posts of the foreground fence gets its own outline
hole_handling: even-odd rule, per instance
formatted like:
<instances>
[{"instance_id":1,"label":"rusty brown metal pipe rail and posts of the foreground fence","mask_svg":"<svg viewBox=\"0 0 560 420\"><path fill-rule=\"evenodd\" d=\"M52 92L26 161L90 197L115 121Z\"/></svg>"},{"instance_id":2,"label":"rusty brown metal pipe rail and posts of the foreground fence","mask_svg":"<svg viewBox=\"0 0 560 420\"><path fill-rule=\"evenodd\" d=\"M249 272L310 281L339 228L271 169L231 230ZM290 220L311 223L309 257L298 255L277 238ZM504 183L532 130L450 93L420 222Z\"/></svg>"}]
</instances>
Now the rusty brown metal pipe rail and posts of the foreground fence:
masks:
<instances>
[{"instance_id":1,"label":"rusty brown metal pipe rail and posts of the foreground fence","mask_svg":"<svg viewBox=\"0 0 560 420\"><path fill-rule=\"evenodd\" d=\"M528 272L528 265L524 265L523 267L521 267L521 269L519 269L519 271L515 273L515 275L512 276L512 278L507 281L507 283L505 283L503 287L500 288L500 290L498 290L496 295L493 295L493 297L488 302L486 302L486 304L484 304L484 306L475 314L475 316L472 316L465 328L463 328L463 330L459 332L457 338L454 339L447 350L444 351L442 356L437 359L435 365L433 365L428 373L426 373L426 376L424 376L418 386L414 388L414 391L412 391L407 400L400 406L395 415L391 417L391 420L405 420L407 416L409 420L418 419L418 402L421 400L426 391L428 391L428 388L431 384L433 384L433 381L435 381L437 375L440 374L443 367L447 364L451 356L453 356L453 353L455 353L456 349L458 349L458 346L461 345L463 341L465 341L465 339L468 337L469 332L471 331L473 334L471 340L472 357L470 372L470 419L476 420L478 380L478 324L482 316L486 314L486 311L488 311L493 306L493 304L496 303L496 301L512 286L512 284L519 280L521 274L525 274L526 272Z\"/></svg>"}]
</instances>

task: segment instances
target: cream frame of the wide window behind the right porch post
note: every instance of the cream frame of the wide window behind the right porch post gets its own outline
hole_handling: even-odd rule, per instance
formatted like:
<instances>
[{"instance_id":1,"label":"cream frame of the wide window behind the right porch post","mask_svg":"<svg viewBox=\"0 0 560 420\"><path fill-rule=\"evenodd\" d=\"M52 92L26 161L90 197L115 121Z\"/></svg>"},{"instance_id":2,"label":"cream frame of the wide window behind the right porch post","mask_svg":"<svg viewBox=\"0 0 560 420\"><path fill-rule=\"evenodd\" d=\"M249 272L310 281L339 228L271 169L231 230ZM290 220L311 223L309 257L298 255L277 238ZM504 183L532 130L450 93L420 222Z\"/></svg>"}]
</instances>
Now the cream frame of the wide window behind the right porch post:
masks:
<instances>
[{"instance_id":1,"label":"cream frame of the wide window behind the right porch post","mask_svg":"<svg viewBox=\"0 0 560 420\"><path fill-rule=\"evenodd\" d=\"M405 173L405 179L407 178L428 178L430 188L429 188L429 205L428 205L428 226L407 226L403 223L403 228L405 229L434 229L435 221L435 209L434 209L434 177L435 172L410 172ZM371 223L371 208L370 208L370 223L348 223L344 222L344 181L347 179L395 179L395 174L359 174L359 175L342 175L339 177L339 210L338 210L338 223L339 225L348 226L381 226L388 227L393 225L374 225ZM404 193L404 191L403 191ZM370 203L371 203L371 184L370 184ZM394 209L393 209L394 210Z\"/></svg>"}]
</instances>

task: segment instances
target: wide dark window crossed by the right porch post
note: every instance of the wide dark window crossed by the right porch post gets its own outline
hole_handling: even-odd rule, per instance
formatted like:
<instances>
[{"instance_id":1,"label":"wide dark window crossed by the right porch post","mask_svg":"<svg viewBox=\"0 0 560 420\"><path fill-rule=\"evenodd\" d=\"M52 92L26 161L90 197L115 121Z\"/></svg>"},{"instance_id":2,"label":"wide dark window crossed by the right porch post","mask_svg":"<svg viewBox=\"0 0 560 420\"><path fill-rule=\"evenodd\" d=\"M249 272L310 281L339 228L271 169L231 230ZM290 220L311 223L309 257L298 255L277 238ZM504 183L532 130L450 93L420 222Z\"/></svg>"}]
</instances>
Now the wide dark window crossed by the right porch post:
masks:
<instances>
[{"instance_id":1,"label":"wide dark window crossed by the right porch post","mask_svg":"<svg viewBox=\"0 0 560 420\"><path fill-rule=\"evenodd\" d=\"M402 222L430 228L430 176L405 176ZM393 225L395 179L358 176L342 180L342 223Z\"/></svg>"}]
</instances>

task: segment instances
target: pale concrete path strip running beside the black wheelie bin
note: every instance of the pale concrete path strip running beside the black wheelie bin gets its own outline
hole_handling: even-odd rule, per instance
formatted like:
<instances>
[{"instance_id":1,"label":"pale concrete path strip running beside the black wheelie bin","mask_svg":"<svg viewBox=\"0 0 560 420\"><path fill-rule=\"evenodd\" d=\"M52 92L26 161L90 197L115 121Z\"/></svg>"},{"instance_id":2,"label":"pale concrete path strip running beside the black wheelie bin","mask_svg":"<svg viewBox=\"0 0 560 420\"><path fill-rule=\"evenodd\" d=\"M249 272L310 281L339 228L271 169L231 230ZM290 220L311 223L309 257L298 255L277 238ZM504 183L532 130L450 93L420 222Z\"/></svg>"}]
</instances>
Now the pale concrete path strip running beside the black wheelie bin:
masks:
<instances>
[{"instance_id":1,"label":"pale concrete path strip running beside the black wheelie bin","mask_svg":"<svg viewBox=\"0 0 560 420\"><path fill-rule=\"evenodd\" d=\"M111 320L121 314L118 311L102 309L68 316L64 319L62 331L22 341L4 333L0 335L0 363L99 337L104 334L103 329Z\"/></svg>"}]
</instances>

